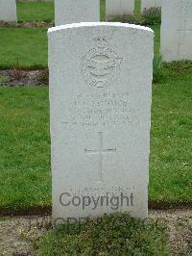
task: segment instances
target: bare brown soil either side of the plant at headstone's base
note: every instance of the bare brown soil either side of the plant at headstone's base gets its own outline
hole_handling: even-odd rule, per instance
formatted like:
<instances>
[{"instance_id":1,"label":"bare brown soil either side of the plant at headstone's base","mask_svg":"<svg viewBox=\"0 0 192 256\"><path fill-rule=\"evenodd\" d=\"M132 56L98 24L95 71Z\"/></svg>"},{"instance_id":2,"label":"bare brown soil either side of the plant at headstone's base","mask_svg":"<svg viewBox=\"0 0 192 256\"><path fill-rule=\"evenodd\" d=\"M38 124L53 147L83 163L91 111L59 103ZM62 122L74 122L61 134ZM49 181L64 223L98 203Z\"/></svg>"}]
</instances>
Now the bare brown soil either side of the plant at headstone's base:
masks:
<instances>
[{"instance_id":1,"label":"bare brown soil either side of the plant at headstone's base","mask_svg":"<svg viewBox=\"0 0 192 256\"><path fill-rule=\"evenodd\" d=\"M192 209L151 210L149 218L167 225L173 255L192 255ZM50 225L51 216L0 218L0 255L35 255L33 243Z\"/></svg>"}]
</instances>

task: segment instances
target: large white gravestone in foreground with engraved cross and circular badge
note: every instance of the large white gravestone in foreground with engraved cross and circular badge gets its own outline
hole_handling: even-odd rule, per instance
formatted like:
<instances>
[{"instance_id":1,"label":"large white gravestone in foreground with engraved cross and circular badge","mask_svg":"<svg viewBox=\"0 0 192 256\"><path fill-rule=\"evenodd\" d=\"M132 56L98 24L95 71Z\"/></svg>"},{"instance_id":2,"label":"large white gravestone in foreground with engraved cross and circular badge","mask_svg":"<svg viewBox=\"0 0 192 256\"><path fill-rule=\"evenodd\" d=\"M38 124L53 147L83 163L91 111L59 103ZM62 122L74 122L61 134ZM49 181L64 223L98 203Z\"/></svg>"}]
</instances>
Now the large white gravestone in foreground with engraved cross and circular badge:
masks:
<instances>
[{"instance_id":1,"label":"large white gravestone in foreground with engraved cross and circular badge","mask_svg":"<svg viewBox=\"0 0 192 256\"><path fill-rule=\"evenodd\" d=\"M53 218L146 218L153 31L90 22L48 38Z\"/></svg>"}]
</instances>

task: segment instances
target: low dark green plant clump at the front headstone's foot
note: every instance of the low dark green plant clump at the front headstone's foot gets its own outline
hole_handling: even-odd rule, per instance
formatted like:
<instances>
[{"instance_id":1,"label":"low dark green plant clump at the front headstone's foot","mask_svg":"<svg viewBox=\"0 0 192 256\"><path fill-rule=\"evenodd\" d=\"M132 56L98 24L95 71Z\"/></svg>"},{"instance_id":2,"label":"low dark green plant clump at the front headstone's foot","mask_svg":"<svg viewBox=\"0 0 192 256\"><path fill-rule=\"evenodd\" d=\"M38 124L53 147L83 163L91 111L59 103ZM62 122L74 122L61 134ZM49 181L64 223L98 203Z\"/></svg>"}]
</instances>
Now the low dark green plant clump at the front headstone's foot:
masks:
<instances>
[{"instance_id":1,"label":"low dark green plant clump at the front headstone's foot","mask_svg":"<svg viewBox=\"0 0 192 256\"><path fill-rule=\"evenodd\" d=\"M128 214L60 225L36 243L37 255L170 255L161 223Z\"/></svg>"}]
</instances>

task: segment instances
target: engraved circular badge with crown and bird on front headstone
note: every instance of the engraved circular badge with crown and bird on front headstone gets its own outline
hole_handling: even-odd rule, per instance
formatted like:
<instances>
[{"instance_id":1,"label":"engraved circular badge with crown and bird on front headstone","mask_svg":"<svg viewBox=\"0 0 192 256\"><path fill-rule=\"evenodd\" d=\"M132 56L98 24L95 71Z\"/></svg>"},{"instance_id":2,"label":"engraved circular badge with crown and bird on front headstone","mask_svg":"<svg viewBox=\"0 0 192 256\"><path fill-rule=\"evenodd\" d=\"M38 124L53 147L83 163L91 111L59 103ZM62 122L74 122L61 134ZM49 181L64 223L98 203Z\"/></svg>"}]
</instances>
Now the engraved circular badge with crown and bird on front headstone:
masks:
<instances>
[{"instance_id":1,"label":"engraved circular badge with crown and bird on front headstone","mask_svg":"<svg viewBox=\"0 0 192 256\"><path fill-rule=\"evenodd\" d=\"M120 70L122 59L108 47L106 38L97 38L97 46L85 53L81 60L84 81L94 88L108 87Z\"/></svg>"}]
</instances>

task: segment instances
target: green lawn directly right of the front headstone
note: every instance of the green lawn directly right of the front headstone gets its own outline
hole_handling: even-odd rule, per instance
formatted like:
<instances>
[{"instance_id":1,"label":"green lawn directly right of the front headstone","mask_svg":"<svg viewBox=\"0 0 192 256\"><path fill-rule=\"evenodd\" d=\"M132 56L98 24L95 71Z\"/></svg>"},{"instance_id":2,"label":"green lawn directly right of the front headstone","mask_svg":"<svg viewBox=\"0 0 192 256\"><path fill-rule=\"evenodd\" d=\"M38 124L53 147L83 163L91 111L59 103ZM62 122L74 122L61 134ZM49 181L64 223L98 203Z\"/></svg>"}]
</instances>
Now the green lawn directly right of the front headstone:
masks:
<instances>
[{"instance_id":1,"label":"green lawn directly right of the front headstone","mask_svg":"<svg viewBox=\"0 0 192 256\"><path fill-rule=\"evenodd\" d=\"M192 205L191 106L192 75L154 87L149 195L155 205Z\"/></svg>"}]
</instances>

